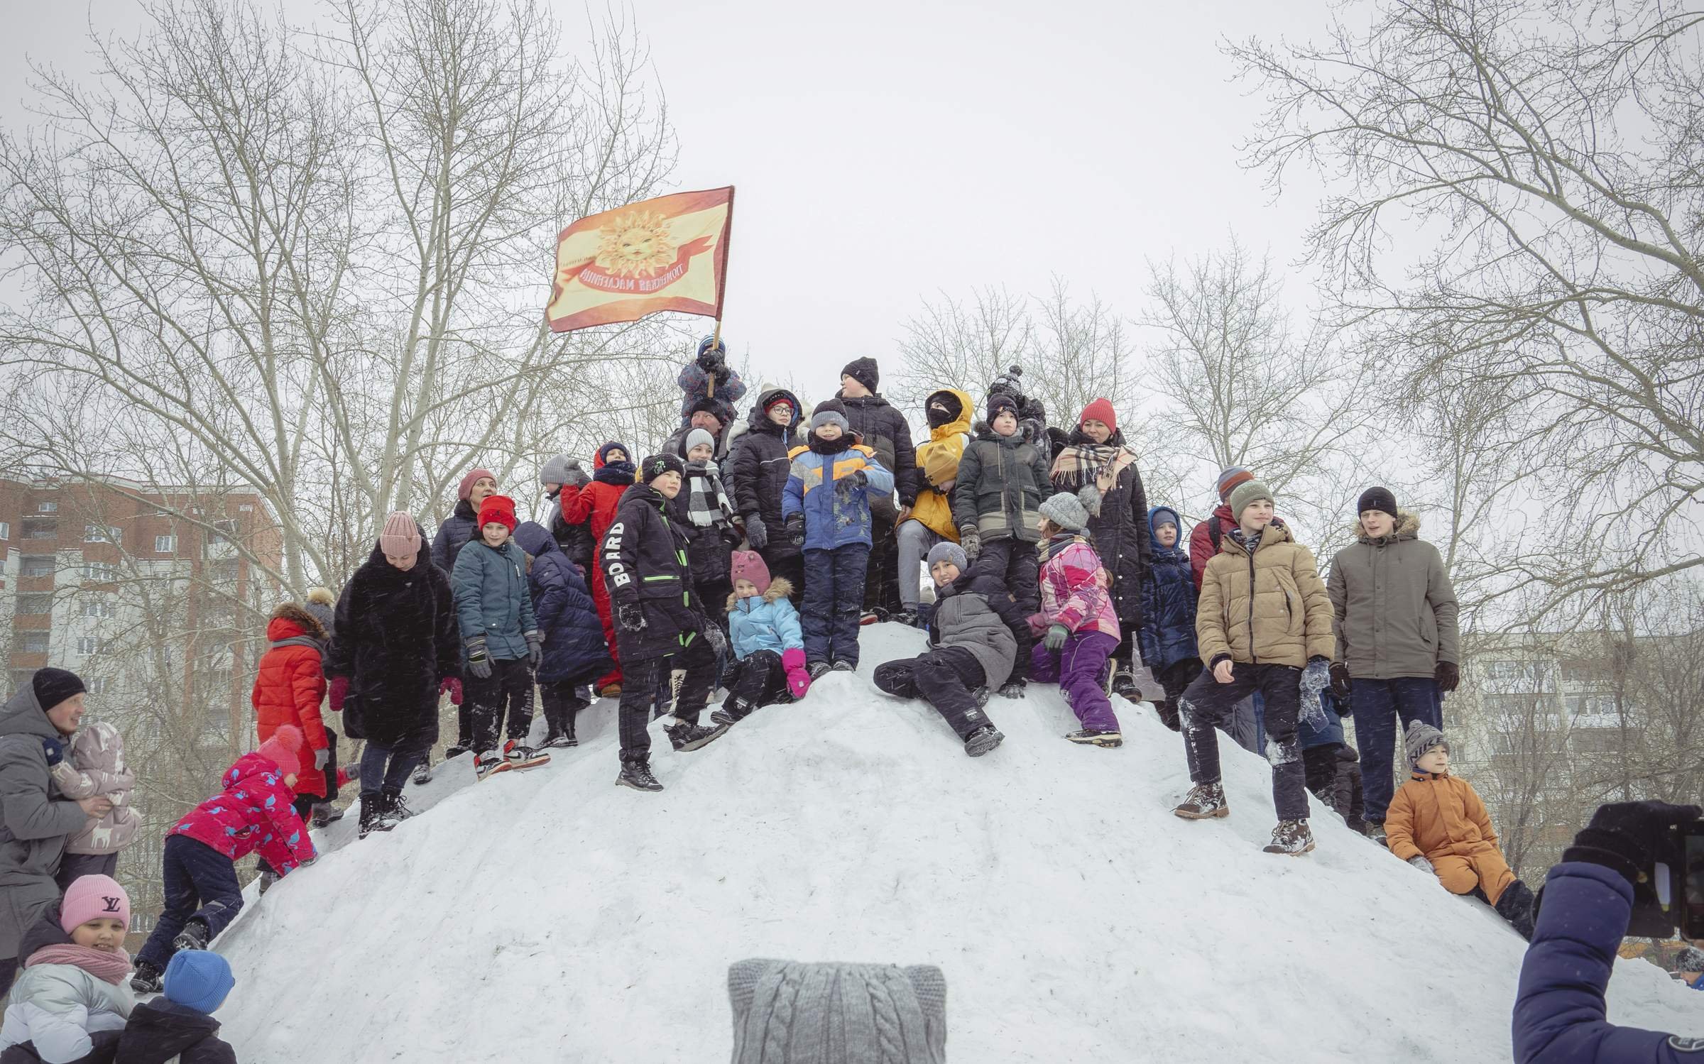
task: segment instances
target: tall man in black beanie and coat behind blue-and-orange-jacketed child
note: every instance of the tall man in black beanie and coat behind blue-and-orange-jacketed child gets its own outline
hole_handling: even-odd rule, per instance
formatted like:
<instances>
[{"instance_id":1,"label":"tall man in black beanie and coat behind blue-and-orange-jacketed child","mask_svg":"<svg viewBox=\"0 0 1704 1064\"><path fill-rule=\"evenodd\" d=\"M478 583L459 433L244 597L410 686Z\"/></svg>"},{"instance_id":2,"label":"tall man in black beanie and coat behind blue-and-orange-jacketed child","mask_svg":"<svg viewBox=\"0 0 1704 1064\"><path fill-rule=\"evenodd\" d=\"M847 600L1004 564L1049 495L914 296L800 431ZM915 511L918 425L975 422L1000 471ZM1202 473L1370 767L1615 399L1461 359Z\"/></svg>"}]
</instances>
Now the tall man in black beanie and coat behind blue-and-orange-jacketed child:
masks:
<instances>
[{"instance_id":1,"label":"tall man in black beanie and coat behind blue-and-orange-jacketed child","mask_svg":"<svg viewBox=\"0 0 1704 1064\"><path fill-rule=\"evenodd\" d=\"M876 451L881 468L893 473L893 497L871 501L869 584L864 591L864 608L896 613L905 604L900 601L900 546L893 529L910 516L917 502L917 451L912 448L912 426L905 415L876 393L879 383L881 371L876 368L876 359L852 359L840 369L840 405L845 407L852 434Z\"/></svg>"}]
</instances>

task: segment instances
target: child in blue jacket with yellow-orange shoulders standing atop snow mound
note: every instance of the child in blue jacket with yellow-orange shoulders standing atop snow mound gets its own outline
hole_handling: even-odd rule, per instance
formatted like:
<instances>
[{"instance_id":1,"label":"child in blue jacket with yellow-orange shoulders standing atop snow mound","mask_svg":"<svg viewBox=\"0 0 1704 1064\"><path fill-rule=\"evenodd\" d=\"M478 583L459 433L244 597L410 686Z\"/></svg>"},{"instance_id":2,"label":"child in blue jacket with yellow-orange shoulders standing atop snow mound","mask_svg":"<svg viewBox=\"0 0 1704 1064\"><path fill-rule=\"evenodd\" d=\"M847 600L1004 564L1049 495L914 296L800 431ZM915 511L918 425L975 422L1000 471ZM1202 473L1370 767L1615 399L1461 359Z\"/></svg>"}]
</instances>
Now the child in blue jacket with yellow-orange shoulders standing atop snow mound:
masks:
<instances>
[{"instance_id":1,"label":"child in blue jacket with yellow-orange shoulders standing atop snow mound","mask_svg":"<svg viewBox=\"0 0 1704 1064\"><path fill-rule=\"evenodd\" d=\"M893 473L857 443L845 407L811 414L809 443L792 451L780 514L804 546L804 659L811 679L857 667L857 628L869 570L869 497L893 494Z\"/></svg>"}]
</instances>

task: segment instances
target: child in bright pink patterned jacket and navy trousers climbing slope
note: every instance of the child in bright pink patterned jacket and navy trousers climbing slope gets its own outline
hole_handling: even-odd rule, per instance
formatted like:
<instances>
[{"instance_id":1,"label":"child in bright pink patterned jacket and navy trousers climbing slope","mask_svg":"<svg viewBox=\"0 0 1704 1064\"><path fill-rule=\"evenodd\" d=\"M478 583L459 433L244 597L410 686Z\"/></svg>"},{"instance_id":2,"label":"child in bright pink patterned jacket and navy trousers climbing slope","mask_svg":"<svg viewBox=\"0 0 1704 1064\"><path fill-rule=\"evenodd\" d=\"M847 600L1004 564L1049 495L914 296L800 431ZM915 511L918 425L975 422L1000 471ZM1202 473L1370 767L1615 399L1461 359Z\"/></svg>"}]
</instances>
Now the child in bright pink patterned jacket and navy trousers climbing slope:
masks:
<instances>
[{"instance_id":1,"label":"child in bright pink patterned jacket and navy trousers climbing slope","mask_svg":"<svg viewBox=\"0 0 1704 1064\"><path fill-rule=\"evenodd\" d=\"M204 950L242 909L237 861L259 851L278 875L312 863L314 841L296 815L302 732L279 727L252 754L225 769L223 787L191 809L165 836L165 911L136 953L138 992L158 992L177 950Z\"/></svg>"}]
</instances>

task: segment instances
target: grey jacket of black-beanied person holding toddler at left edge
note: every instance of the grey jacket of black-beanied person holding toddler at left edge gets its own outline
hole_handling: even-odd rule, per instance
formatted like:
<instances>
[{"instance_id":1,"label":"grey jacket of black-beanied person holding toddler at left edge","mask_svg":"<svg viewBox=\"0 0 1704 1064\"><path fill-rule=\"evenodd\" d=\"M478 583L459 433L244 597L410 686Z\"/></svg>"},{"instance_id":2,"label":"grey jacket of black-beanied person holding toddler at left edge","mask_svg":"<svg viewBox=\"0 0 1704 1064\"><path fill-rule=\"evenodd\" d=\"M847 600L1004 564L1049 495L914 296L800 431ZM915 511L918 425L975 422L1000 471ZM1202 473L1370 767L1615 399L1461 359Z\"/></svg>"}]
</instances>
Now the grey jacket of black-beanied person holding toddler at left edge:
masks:
<instances>
[{"instance_id":1,"label":"grey jacket of black-beanied person holding toddler at left edge","mask_svg":"<svg viewBox=\"0 0 1704 1064\"><path fill-rule=\"evenodd\" d=\"M17 957L24 931L60 901L65 841L89 821L53 785L43 739L65 741L26 683L0 708L0 958Z\"/></svg>"}]
</instances>

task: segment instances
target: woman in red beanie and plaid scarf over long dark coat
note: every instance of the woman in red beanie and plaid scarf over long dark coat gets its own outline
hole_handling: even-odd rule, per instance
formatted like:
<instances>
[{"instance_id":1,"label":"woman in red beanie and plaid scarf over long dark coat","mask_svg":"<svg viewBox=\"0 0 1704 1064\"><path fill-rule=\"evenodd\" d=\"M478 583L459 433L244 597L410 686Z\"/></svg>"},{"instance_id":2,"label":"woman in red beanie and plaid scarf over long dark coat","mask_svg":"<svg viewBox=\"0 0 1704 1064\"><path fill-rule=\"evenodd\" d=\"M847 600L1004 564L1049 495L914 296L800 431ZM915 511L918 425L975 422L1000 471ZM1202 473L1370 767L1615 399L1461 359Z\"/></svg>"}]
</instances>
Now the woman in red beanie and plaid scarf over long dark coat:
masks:
<instances>
[{"instance_id":1,"label":"woman in red beanie and plaid scarf over long dark coat","mask_svg":"<svg viewBox=\"0 0 1704 1064\"><path fill-rule=\"evenodd\" d=\"M1142 630L1142 581L1152 560L1148 495L1137 453L1125 446L1113 403L1097 398L1082 410L1067 446L1053 458L1053 487L1075 492L1089 511L1089 535L1113 574L1113 608L1123 640L1114 655L1113 691L1135 698L1135 640Z\"/></svg>"}]
</instances>

